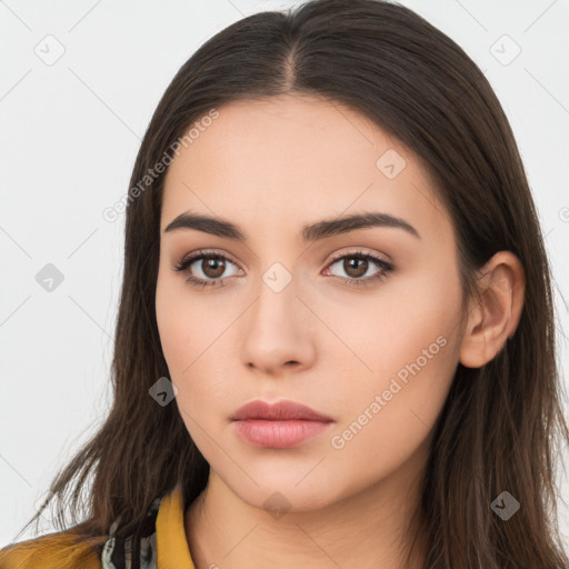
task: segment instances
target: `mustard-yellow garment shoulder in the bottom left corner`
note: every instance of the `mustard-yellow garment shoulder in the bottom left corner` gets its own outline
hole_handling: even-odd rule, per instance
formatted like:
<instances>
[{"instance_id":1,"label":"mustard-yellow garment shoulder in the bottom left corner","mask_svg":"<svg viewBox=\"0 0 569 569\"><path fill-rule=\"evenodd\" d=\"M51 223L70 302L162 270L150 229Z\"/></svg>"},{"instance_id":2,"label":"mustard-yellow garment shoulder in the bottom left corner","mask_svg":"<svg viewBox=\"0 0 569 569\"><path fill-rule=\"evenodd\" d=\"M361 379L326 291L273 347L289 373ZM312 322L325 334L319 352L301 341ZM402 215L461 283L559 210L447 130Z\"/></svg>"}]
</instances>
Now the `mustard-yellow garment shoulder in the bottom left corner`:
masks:
<instances>
[{"instance_id":1,"label":"mustard-yellow garment shoulder in the bottom left corner","mask_svg":"<svg viewBox=\"0 0 569 569\"><path fill-rule=\"evenodd\" d=\"M93 542L67 530L11 543L0 549L2 569L99 569Z\"/></svg>"}]
</instances>

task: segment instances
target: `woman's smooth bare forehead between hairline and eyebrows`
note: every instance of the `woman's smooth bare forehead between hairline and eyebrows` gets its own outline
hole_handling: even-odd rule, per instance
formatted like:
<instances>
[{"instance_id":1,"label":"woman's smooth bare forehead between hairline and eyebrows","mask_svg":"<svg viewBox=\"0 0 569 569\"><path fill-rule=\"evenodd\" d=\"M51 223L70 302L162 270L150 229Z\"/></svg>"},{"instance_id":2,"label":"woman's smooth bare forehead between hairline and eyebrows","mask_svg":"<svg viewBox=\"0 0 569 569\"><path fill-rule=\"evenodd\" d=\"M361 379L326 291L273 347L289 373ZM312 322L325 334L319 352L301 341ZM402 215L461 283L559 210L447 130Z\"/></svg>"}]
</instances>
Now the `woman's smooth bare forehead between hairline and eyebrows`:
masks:
<instances>
[{"instance_id":1,"label":"woman's smooth bare forehead between hairline and eyebrows","mask_svg":"<svg viewBox=\"0 0 569 569\"><path fill-rule=\"evenodd\" d=\"M415 153L339 102L283 96L218 112L169 167L161 231L188 210L266 234L355 211L439 232L448 221Z\"/></svg>"}]
</instances>

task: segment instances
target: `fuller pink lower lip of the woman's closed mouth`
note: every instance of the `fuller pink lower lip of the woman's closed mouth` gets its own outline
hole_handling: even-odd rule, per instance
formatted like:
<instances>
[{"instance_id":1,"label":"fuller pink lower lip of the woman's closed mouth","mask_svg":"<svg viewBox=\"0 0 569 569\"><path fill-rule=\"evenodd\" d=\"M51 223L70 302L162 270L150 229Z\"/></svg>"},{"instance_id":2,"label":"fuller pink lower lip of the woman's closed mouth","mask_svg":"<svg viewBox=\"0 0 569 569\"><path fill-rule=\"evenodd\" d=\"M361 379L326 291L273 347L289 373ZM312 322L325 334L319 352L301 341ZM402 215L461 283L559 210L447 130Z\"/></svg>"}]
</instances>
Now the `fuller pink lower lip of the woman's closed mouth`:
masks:
<instances>
[{"instance_id":1,"label":"fuller pink lower lip of the woman's closed mouth","mask_svg":"<svg viewBox=\"0 0 569 569\"><path fill-rule=\"evenodd\" d=\"M289 449L320 435L331 421L244 419L233 425L239 436L256 447Z\"/></svg>"}]
</instances>

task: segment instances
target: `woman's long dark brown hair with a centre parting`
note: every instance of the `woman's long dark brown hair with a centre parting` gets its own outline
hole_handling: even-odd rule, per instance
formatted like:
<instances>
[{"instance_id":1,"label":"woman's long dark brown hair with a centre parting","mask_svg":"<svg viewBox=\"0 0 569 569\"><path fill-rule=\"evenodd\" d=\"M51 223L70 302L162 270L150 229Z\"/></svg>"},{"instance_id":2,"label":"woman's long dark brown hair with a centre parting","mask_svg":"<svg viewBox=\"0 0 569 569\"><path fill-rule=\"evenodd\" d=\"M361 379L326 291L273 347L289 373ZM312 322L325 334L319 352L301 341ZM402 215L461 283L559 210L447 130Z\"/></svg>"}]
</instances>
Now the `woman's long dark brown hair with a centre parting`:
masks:
<instances>
[{"instance_id":1,"label":"woman's long dark brown hair with a centre parting","mask_svg":"<svg viewBox=\"0 0 569 569\"><path fill-rule=\"evenodd\" d=\"M166 172L140 181L212 109L283 93L348 104L422 159L456 231L465 298L476 293L477 271L493 253L520 259L519 326L486 366L458 365L409 530L427 536L429 569L562 567L556 443L565 448L569 430L550 267L520 154L496 94L465 51L411 10L379 0L315 0L244 18L201 46L168 87L131 177L139 191L126 213L113 403L50 488L59 526L66 528L61 505L70 506L73 523L86 507L73 531L94 547L118 518L117 535L136 535L154 498L178 482L186 505L203 490L209 465L178 407L149 397L169 376L154 308ZM521 503L508 521L490 507L503 490Z\"/></svg>"}]
</instances>

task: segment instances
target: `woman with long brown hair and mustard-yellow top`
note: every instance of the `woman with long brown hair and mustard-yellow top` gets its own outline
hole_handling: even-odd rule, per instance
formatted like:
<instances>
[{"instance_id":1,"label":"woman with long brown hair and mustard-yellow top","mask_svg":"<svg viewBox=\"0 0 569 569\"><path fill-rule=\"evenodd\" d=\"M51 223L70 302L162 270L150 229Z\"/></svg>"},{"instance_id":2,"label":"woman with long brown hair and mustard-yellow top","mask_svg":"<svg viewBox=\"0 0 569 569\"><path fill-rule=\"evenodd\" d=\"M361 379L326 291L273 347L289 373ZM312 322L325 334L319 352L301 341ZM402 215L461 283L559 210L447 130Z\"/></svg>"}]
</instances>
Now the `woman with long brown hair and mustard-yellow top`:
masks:
<instances>
[{"instance_id":1,"label":"woman with long brown hair and mustard-yellow top","mask_svg":"<svg viewBox=\"0 0 569 569\"><path fill-rule=\"evenodd\" d=\"M548 259L485 76L400 6L246 18L128 196L114 402L11 567L560 568Z\"/></svg>"}]
</instances>

